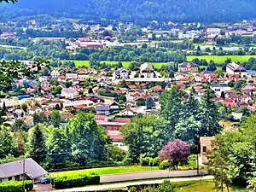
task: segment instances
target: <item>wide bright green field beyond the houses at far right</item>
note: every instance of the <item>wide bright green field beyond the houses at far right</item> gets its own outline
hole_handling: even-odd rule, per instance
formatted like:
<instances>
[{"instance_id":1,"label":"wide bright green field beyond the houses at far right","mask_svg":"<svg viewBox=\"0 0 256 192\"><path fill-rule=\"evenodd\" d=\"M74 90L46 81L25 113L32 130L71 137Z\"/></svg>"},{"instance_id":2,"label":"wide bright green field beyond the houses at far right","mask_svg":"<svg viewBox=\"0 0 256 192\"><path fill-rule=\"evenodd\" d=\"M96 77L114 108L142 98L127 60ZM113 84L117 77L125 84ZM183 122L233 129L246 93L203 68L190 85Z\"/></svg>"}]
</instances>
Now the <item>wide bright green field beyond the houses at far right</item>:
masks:
<instances>
[{"instance_id":1,"label":"wide bright green field beyond the houses at far right","mask_svg":"<svg viewBox=\"0 0 256 192\"><path fill-rule=\"evenodd\" d=\"M214 61L215 63L222 64L227 58L230 58L234 62L245 62L248 61L251 57L256 58L256 55L201 55L201 56L187 56L187 61L192 61L195 58L199 60L205 59L207 62Z\"/></svg>"}]
</instances>

